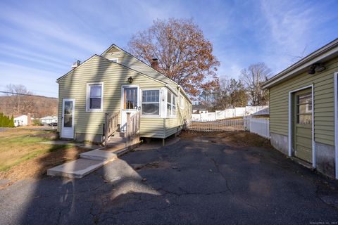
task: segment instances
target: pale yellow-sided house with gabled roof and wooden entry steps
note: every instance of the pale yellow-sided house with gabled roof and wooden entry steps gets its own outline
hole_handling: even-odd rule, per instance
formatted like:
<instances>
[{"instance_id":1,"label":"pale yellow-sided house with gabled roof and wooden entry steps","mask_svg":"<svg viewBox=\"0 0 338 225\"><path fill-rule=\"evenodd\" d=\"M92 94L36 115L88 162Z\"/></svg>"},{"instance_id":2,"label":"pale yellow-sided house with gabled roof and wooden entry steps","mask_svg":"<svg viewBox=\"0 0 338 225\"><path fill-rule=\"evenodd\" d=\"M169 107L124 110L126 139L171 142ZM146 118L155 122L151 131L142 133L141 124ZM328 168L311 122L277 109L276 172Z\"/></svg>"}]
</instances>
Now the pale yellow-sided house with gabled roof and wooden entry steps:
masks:
<instances>
[{"instance_id":1,"label":"pale yellow-sided house with gabled roof and wooden entry steps","mask_svg":"<svg viewBox=\"0 0 338 225\"><path fill-rule=\"evenodd\" d=\"M77 63L57 79L58 131L61 138L104 141L106 113L119 113L125 131L127 113L138 110L140 136L165 139L179 132L191 117L191 104L182 87L130 53L112 45L101 56Z\"/></svg>"}]
</instances>

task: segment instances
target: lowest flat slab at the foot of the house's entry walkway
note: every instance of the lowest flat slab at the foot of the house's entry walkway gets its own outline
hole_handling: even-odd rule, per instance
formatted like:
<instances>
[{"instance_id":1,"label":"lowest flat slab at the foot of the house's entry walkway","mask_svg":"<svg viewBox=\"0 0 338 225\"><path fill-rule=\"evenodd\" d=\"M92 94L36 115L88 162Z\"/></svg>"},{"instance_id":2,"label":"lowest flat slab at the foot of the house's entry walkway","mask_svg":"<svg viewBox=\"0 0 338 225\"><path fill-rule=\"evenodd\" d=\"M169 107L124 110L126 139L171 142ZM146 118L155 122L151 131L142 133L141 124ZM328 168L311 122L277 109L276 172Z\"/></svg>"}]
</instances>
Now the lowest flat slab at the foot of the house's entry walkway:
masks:
<instances>
[{"instance_id":1,"label":"lowest flat slab at the foot of the house's entry walkway","mask_svg":"<svg viewBox=\"0 0 338 225\"><path fill-rule=\"evenodd\" d=\"M93 172L96 169L106 165L110 160L87 160L78 159L72 162L66 162L63 165L47 169L49 176L65 176L73 179L80 179L83 176Z\"/></svg>"}]
</instances>

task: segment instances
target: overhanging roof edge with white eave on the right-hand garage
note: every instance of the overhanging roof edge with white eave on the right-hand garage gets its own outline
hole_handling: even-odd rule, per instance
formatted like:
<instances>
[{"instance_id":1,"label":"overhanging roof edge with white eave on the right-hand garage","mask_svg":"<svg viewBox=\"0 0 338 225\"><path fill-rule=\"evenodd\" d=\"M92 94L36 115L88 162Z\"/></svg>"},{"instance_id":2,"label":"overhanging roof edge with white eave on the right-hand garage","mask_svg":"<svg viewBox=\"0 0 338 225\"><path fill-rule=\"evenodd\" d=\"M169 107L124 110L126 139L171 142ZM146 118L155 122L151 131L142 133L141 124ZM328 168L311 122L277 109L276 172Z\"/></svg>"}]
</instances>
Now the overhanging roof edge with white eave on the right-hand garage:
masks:
<instances>
[{"instance_id":1,"label":"overhanging roof edge with white eave on the right-hand garage","mask_svg":"<svg viewBox=\"0 0 338 225\"><path fill-rule=\"evenodd\" d=\"M274 77L271 77L263 84L263 88L267 89L276 84L280 84L280 82L299 75L301 72L306 72L306 70L314 63L323 63L336 56L338 56L338 39L334 39L334 41L331 41L329 44L326 44L305 58L302 58L297 63L289 66L289 68L283 70Z\"/></svg>"}]
</instances>

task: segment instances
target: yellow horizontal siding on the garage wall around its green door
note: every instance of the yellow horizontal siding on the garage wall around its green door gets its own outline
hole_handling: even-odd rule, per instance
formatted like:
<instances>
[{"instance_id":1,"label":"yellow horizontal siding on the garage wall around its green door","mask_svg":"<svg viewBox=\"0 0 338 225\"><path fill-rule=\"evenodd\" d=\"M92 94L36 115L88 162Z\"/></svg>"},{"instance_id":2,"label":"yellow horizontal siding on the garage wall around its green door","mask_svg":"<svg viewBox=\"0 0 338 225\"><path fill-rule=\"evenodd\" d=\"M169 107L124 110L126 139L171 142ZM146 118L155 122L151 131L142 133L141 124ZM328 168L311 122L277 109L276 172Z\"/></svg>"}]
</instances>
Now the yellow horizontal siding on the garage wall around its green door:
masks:
<instances>
[{"instance_id":1,"label":"yellow horizontal siding on the garage wall around its green door","mask_svg":"<svg viewBox=\"0 0 338 225\"><path fill-rule=\"evenodd\" d=\"M270 88L270 132L288 136L289 91L313 84L314 138L316 143L334 146L334 72L338 58L325 63L315 75L303 72Z\"/></svg>"}]
</instances>

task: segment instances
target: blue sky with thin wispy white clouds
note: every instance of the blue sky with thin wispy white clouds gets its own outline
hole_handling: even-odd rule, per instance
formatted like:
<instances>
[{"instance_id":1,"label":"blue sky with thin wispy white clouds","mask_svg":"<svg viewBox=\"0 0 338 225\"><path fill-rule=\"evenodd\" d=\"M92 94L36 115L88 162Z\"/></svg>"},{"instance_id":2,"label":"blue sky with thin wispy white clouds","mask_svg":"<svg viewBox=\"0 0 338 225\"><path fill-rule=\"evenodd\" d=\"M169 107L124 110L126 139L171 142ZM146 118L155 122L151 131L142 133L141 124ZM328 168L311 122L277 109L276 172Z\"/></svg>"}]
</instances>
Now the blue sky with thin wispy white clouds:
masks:
<instances>
[{"instance_id":1,"label":"blue sky with thin wispy white clouds","mask_svg":"<svg viewBox=\"0 0 338 225\"><path fill-rule=\"evenodd\" d=\"M338 1L0 1L0 90L24 84L57 96L75 60L126 48L156 18L194 18L220 77L265 62L273 73L338 37Z\"/></svg>"}]
</instances>

